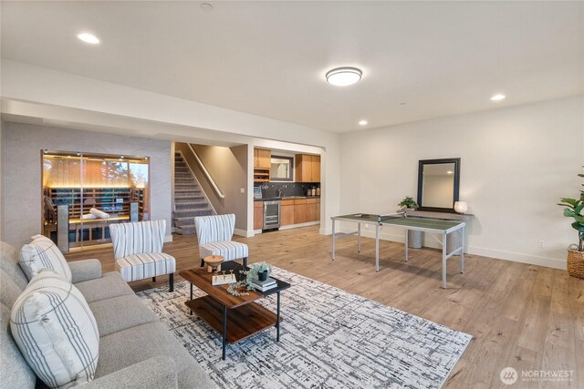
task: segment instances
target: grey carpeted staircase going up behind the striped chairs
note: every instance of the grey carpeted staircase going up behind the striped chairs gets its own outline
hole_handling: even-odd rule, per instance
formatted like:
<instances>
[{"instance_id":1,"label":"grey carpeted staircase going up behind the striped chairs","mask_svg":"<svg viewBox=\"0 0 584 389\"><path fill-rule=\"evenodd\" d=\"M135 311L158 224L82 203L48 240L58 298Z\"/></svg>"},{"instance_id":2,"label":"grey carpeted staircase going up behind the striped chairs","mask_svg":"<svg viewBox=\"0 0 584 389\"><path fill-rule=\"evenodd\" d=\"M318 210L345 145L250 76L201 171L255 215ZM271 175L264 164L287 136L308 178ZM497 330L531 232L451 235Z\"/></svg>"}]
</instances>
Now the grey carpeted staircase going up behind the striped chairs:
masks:
<instances>
[{"instance_id":1,"label":"grey carpeted staircase going up behind the striped chairs","mask_svg":"<svg viewBox=\"0 0 584 389\"><path fill-rule=\"evenodd\" d=\"M181 153L174 153L174 232L195 233L194 217L213 215L199 183L187 167Z\"/></svg>"}]
</instances>

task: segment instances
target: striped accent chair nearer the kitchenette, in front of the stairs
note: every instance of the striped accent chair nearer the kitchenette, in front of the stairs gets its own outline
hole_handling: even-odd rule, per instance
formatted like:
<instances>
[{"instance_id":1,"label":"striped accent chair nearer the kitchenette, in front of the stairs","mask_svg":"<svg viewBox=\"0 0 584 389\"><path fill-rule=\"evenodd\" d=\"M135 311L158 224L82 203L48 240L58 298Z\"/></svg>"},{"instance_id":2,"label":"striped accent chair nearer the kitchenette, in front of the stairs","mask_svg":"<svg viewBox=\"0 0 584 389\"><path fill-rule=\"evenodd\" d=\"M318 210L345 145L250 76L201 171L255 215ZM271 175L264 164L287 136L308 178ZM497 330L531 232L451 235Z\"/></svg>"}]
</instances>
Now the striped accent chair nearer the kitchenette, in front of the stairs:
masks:
<instances>
[{"instance_id":1,"label":"striped accent chair nearer the kitchenette, in front of the stairs","mask_svg":"<svg viewBox=\"0 0 584 389\"><path fill-rule=\"evenodd\" d=\"M203 259L210 255L221 255L224 261L242 259L247 266L247 245L232 241L235 230L235 215L199 216L194 218L199 241L199 255L201 266Z\"/></svg>"}]
</instances>

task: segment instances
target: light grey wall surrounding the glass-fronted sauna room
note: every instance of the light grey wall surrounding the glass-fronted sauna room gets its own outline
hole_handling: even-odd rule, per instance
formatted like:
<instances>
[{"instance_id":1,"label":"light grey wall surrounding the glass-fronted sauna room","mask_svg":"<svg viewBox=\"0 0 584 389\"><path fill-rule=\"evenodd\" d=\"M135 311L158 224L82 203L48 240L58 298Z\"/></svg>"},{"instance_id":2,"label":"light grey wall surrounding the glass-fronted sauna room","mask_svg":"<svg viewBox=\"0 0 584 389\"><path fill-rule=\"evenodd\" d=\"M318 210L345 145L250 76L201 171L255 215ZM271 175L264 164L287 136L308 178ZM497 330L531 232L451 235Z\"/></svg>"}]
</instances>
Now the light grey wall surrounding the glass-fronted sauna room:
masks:
<instances>
[{"instance_id":1,"label":"light grey wall surrounding the glass-fronted sauna room","mask_svg":"<svg viewBox=\"0 0 584 389\"><path fill-rule=\"evenodd\" d=\"M5 212L3 241L19 247L41 230L41 150L82 151L151 158L151 220L165 219L172 240L171 142L6 122L4 141Z\"/></svg>"}]
</instances>

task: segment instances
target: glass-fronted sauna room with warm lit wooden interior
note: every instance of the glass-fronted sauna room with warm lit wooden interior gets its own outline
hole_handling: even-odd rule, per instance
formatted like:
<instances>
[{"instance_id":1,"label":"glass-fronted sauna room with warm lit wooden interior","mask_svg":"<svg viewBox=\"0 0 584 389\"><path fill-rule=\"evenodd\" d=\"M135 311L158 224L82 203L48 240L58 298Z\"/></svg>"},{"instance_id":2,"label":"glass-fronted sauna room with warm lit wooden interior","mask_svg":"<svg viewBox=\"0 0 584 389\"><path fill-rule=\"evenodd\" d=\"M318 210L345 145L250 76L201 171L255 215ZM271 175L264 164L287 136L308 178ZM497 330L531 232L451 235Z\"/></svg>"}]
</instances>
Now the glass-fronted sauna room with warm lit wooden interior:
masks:
<instances>
[{"instance_id":1,"label":"glass-fronted sauna room with warm lit wooden interior","mask_svg":"<svg viewBox=\"0 0 584 389\"><path fill-rule=\"evenodd\" d=\"M110 242L111 223L150 219L148 157L43 150L42 165L43 233L61 250Z\"/></svg>"}]
</instances>

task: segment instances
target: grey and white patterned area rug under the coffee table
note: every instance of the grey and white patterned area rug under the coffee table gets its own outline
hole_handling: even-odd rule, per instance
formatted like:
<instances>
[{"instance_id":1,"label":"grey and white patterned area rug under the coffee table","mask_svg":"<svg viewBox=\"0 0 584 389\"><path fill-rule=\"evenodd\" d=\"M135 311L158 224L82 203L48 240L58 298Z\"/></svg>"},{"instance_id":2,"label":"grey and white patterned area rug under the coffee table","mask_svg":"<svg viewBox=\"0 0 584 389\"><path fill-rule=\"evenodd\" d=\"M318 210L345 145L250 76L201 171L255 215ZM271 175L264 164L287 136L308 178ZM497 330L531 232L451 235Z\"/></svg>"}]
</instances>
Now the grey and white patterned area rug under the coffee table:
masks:
<instances>
[{"instance_id":1,"label":"grey and white patterned area rug under the coffee table","mask_svg":"<svg viewBox=\"0 0 584 389\"><path fill-rule=\"evenodd\" d=\"M274 269L274 277L292 284L281 293L280 342L276 328L266 329L228 344L225 361L219 333L184 305L188 282L138 295L224 388L439 388L471 340L289 271ZM276 312L276 295L259 303Z\"/></svg>"}]
</instances>

